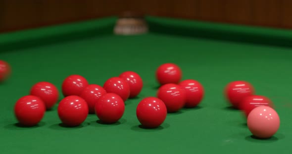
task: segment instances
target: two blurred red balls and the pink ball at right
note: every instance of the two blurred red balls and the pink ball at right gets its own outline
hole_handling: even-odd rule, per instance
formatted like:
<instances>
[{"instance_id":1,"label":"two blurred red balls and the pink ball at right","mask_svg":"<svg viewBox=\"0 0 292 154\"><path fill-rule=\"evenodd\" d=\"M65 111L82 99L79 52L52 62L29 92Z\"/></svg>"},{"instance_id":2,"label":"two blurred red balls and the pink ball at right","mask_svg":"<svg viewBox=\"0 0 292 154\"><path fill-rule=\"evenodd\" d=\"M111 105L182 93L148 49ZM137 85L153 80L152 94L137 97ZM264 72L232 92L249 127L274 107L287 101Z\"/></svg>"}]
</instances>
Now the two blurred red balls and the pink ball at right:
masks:
<instances>
[{"instance_id":1,"label":"two blurred red balls and the pink ball at right","mask_svg":"<svg viewBox=\"0 0 292 154\"><path fill-rule=\"evenodd\" d=\"M272 101L256 95L249 82L230 82L225 88L225 96L233 108L243 112L248 129L255 137L270 138L278 131L280 118Z\"/></svg>"}]
</instances>

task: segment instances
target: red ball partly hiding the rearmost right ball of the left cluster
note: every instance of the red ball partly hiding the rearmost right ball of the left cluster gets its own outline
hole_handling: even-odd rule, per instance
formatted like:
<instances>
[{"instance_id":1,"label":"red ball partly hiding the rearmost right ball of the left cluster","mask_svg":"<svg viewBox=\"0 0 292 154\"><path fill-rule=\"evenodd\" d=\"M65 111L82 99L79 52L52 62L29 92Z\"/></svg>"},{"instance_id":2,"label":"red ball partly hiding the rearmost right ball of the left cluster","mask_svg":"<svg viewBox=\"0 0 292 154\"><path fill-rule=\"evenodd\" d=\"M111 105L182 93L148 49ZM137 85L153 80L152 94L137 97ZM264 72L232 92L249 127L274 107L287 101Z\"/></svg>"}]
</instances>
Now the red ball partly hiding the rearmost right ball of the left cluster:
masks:
<instances>
[{"instance_id":1,"label":"red ball partly hiding the rearmost right ball of the left cluster","mask_svg":"<svg viewBox=\"0 0 292 154\"><path fill-rule=\"evenodd\" d=\"M115 93L119 95L124 102L130 96L130 86L127 81L121 77L111 77L107 79L103 84L103 88L108 93Z\"/></svg>"}]
</instances>

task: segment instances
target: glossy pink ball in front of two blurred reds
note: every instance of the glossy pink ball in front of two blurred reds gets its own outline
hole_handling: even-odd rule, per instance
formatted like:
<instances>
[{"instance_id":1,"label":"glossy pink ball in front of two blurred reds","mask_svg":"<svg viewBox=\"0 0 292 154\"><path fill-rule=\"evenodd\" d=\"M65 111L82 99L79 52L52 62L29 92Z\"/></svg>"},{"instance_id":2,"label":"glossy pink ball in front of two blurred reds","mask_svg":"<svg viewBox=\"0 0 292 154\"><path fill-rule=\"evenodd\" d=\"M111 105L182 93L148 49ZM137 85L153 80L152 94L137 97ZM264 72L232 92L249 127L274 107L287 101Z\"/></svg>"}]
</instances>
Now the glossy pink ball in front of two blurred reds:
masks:
<instances>
[{"instance_id":1,"label":"glossy pink ball in front of two blurred reds","mask_svg":"<svg viewBox=\"0 0 292 154\"><path fill-rule=\"evenodd\" d=\"M280 127L280 117L271 107L256 107L247 116L247 126L255 137L270 138Z\"/></svg>"}]
</instances>

